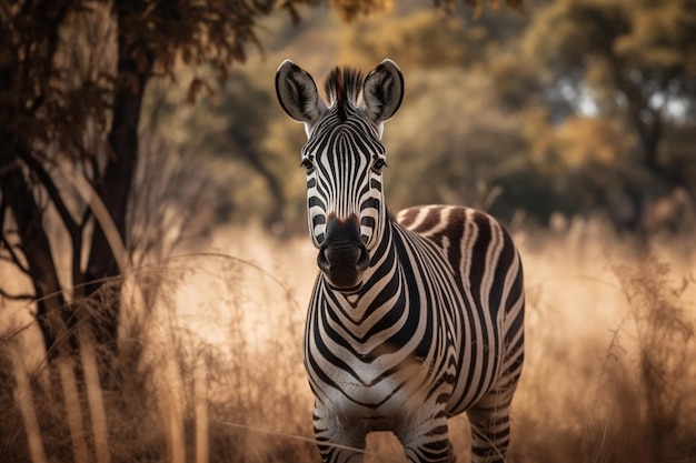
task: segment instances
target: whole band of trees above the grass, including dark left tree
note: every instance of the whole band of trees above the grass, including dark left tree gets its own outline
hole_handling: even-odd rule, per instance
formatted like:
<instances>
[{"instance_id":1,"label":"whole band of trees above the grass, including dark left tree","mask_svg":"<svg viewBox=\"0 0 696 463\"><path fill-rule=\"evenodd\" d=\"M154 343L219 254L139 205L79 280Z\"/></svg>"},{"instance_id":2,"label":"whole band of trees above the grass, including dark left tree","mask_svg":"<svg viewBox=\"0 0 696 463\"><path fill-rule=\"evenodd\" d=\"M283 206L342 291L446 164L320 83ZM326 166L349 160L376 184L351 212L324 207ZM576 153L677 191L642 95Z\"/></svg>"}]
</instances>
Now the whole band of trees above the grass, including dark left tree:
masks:
<instances>
[{"instance_id":1,"label":"whole band of trees above the grass, including dark left tree","mask_svg":"<svg viewBox=\"0 0 696 463\"><path fill-rule=\"evenodd\" d=\"M106 288L125 269L220 223L304 232L302 131L272 87L285 58L317 79L337 63L399 63L406 99L385 134L394 211L447 202L507 223L684 233L694 6L3 2L0 264L21 278L0 281L0 298L36 301L52 355L79 349L86 326L108 356L119 300ZM99 316L83 310L96 301Z\"/></svg>"}]
</instances>

